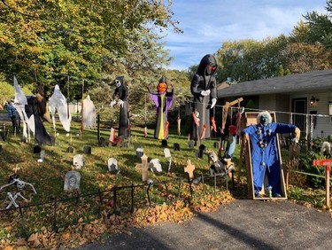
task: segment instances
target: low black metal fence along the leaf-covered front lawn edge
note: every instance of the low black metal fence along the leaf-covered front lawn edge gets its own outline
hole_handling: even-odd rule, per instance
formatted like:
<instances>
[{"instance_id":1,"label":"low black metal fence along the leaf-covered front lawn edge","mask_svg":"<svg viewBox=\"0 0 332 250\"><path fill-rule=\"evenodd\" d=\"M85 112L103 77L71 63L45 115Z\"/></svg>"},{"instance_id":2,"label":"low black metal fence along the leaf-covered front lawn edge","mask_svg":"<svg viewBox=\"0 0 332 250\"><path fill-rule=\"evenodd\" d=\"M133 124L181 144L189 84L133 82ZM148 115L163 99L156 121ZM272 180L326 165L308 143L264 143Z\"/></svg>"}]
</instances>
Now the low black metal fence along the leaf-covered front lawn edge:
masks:
<instances>
[{"instance_id":1,"label":"low black metal fence along the leaf-covered front lawn edge","mask_svg":"<svg viewBox=\"0 0 332 250\"><path fill-rule=\"evenodd\" d=\"M232 184L234 188L234 173ZM224 190L228 190L228 175L199 176L194 180L174 178L170 181L150 184L130 184L127 186L113 186L111 190L96 191L81 194L76 192L73 197L66 199L53 198L49 201L35 204L19 205L1 209L1 218L15 221L20 220L20 234L27 237L36 221L45 221L51 231L65 228L77 223L87 223L102 216L106 210L108 215L120 213L133 213L135 208L152 207L157 204L172 202L176 199L199 198L201 193L195 195L199 184L211 184L210 193L217 194L222 191L218 187L225 182ZM205 192L206 194L206 192ZM137 199L138 198L138 199Z\"/></svg>"}]
</instances>

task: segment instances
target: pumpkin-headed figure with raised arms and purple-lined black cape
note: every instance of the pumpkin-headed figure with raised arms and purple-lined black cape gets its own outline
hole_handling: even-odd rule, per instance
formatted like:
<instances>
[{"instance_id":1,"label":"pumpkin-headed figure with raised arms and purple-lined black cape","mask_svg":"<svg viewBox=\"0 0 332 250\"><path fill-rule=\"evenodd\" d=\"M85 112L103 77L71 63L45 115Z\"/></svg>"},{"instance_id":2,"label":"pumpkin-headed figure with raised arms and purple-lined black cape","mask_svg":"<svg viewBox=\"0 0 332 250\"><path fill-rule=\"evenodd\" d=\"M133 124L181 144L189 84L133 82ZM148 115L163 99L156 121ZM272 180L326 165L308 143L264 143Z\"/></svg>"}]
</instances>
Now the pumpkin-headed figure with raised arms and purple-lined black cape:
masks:
<instances>
[{"instance_id":1,"label":"pumpkin-headed figure with raised arms and purple-lined black cape","mask_svg":"<svg viewBox=\"0 0 332 250\"><path fill-rule=\"evenodd\" d=\"M164 75L158 82L157 93L152 93L150 87L147 87L150 93L150 98L156 105L157 122L154 130L154 137L159 140L163 140L168 137L169 122L167 121L167 113L172 106L174 96L174 88L172 84L171 87L172 90L167 92L168 84Z\"/></svg>"}]
</instances>

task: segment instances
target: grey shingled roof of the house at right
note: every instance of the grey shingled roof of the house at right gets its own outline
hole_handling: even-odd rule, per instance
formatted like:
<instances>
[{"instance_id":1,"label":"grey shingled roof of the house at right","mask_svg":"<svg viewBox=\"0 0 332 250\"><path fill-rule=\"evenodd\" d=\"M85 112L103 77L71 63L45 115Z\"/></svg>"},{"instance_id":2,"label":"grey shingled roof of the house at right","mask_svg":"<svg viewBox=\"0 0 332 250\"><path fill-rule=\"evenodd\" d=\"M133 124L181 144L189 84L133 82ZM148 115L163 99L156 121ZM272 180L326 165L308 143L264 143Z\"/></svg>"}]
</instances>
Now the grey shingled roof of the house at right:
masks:
<instances>
[{"instance_id":1,"label":"grey shingled roof of the house at right","mask_svg":"<svg viewBox=\"0 0 332 250\"><path fill-rule=\"evenodd\" d=\"M332 90L332 69L239 82L218 90L218 98Z\"/></svg>"}]
</instances>

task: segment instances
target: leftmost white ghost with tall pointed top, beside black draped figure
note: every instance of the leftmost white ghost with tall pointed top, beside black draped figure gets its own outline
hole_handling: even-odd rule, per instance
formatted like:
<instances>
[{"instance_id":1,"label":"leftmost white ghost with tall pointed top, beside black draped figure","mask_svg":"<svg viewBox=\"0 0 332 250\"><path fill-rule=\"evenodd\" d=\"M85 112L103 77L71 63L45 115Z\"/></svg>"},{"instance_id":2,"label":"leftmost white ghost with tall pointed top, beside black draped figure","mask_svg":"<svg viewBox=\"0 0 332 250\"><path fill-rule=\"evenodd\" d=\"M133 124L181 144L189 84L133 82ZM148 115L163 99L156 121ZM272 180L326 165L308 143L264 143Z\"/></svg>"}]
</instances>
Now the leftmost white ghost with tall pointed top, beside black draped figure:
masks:
<instances>
[{"instance_id":1,"label":"leftmost white ghost with tall pointed top, beside black draped figure","mask_svg":"<svg viewBox=\"0 0 332 250\"><path fill-rule=\"evenodd\" d=\"M19 113L19 118L23 121L23 137L30 137L30 130L35 134L35 115L27 117L25 105L27 105L27 97L19 86L19 82L14 76L15 99L14 107Z\"/></svg>"}]
</instances>

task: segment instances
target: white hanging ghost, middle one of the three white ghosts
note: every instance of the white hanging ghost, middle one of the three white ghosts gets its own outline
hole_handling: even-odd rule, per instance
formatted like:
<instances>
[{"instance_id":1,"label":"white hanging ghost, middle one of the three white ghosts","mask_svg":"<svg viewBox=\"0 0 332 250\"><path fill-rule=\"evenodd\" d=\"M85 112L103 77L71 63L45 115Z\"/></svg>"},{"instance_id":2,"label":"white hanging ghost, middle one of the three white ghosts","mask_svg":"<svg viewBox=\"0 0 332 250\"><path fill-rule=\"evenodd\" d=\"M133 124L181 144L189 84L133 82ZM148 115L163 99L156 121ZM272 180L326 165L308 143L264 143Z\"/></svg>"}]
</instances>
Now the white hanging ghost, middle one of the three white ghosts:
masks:
<instances>
[{"instance_id":1,"label":"white hanging ghost, middle one of the three white ghosts","mask_svg":"<svg viewBox=\"0 0 332 250\"><path fill-rule=\"evenodd\" d=\"M69 107L66 102L65 96L61 93L58 84L54 88L53 95L49 99L50 114L52 115L53 129L55 130L55 113L58 111L58 118L61 121L64 129L70 131L70 122L72 121L72 114L69 111Z\"/></svg>"}]
</instances>

